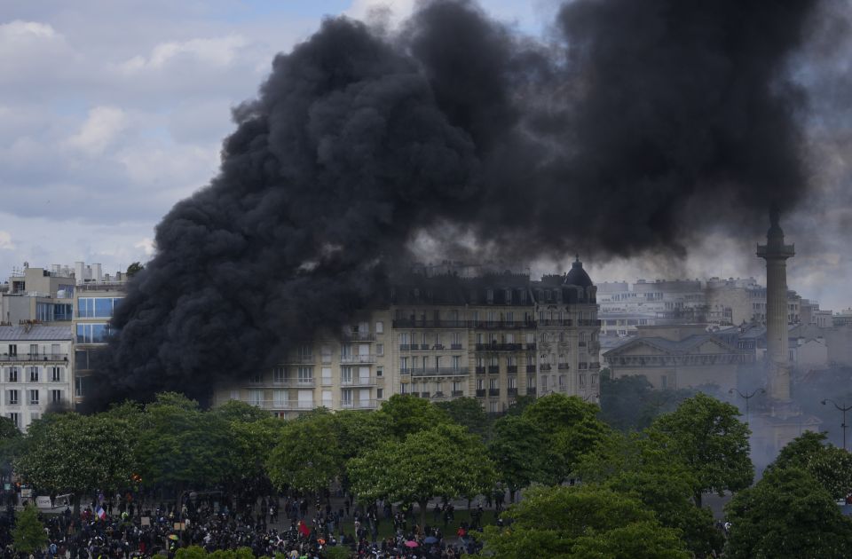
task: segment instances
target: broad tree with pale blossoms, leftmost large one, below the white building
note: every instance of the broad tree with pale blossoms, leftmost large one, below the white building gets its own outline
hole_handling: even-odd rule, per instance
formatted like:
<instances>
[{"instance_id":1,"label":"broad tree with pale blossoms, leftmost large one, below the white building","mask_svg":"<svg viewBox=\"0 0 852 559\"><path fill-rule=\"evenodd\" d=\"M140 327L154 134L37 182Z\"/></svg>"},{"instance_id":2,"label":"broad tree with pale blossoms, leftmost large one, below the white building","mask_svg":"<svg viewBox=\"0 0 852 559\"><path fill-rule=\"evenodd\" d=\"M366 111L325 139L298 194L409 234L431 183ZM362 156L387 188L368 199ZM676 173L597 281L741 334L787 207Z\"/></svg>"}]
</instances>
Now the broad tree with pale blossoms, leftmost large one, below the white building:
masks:
<instances>
[{"instance_id":1,"label":"broad tree with pale blossoms, leftmost large one, below the white building","mask_svg":"<svg viewBox=\"0 0 852 559\"><path fill-rule=\"evenodd\" d=\"M30 425L15 471L43 491L117 489L133 468L130 436L104 415L49 413Z\"/></svg>"}]
</instances>

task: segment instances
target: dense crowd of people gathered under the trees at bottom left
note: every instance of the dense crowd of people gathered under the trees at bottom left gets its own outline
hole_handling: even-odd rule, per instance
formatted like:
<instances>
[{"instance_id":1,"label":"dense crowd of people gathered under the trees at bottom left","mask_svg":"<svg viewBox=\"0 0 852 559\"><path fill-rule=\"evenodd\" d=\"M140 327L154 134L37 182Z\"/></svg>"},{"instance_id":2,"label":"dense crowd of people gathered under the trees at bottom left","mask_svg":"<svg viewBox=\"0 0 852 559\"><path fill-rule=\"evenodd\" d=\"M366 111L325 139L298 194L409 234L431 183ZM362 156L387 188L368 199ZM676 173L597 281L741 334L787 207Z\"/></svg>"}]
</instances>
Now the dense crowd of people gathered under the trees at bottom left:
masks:
<instances>
[{"instance_id":1,"label":"dense crowd of people gathered under the trees at bottom left","mask_svg":"<svg viewBox=\"0 0 852 559\"><path fill-rule=\"evenodd\" d=\"M476 526L462 523L450 538L438 526L443 520L446 528L453 520L452 504L438 506L438 522L424 526L415 522L410 506L395 510L384 502L365 509L353 508L351 501L345 500L340 508L316 503L311 509L304 498L287 496L233 501L217 494L150 506L128 499L99 499L87 504L79 515L70 507L57 511L59 514L44 515L49 544L36 559L157 555L171 559L178 549L190 546L208 552L248 547L257 557L281 554L288 559L322 559L331 547L347 548L353 557L376 559L446 559L479 549L469 537L469 531ZM4 546L4 558L11 559L15 555L10 520L11 516L0 525L0 544ZM392 535L379 536L382 523L392 524Z\"/></svg>"}]
</instances>

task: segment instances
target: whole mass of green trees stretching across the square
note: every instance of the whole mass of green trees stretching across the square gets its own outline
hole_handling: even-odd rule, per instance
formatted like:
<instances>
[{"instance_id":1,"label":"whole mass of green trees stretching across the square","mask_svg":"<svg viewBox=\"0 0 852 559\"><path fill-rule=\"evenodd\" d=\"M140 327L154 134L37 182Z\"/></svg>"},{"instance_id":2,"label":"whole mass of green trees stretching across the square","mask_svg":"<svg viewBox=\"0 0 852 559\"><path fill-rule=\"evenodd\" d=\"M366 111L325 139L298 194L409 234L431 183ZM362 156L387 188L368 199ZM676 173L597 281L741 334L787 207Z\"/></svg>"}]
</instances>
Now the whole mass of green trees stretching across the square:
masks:
<instances>
[{"instance_id":1,"label":"whole mass of green trees stretching across the square","mask_svg":"<svg viewBox=\"0 0 852 559\"><path fill-rule=\"evenodd\" d=\"M806 434L751 487L738 416L699 393L625 432L601 421L596 405L553 394L496 421L474 399L433 405L411 396L375 412L320 409L282 421L239 402L204 411L168 393L97 415L47 414L26 437L4 437L0 451L43 492L272 484L319 496L343 484L361 502L416 503L422 523L434 497L525 489L509 509L510 529L485 530L485 551L497 557L719 553L722 532L702 496L737 492L730 556L794 556L784 555L796 548L785 539L794 530L802 546L822 546L812 556L847 553L850 523L833 500L852 491L849 454ZM574 479L582 483L565 484Z\"/></svg>"}]
</instances>

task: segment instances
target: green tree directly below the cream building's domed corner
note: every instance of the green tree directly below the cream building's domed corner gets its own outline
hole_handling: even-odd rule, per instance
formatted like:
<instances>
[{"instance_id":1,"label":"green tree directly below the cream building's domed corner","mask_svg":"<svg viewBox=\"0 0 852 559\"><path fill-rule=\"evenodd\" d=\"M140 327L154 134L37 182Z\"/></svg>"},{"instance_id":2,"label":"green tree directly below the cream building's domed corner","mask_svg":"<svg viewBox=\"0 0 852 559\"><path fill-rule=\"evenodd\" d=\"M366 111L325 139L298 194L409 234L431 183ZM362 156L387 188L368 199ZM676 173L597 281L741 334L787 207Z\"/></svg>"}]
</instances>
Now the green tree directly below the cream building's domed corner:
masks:
<instances>
[{"instance_id":1,"label":"green tree directly below the cream building's domed corner","mask_svg":"<svg viewBox=\"0 0 852 559\"><path fill-rule=\"evenodd\" d=\"M558 484L571 476L580 458L604 440L609 428L596 418L598 407L575 396L549 394L521 415L544 434L540 480Z\"/></svg>"}]
</instances>

